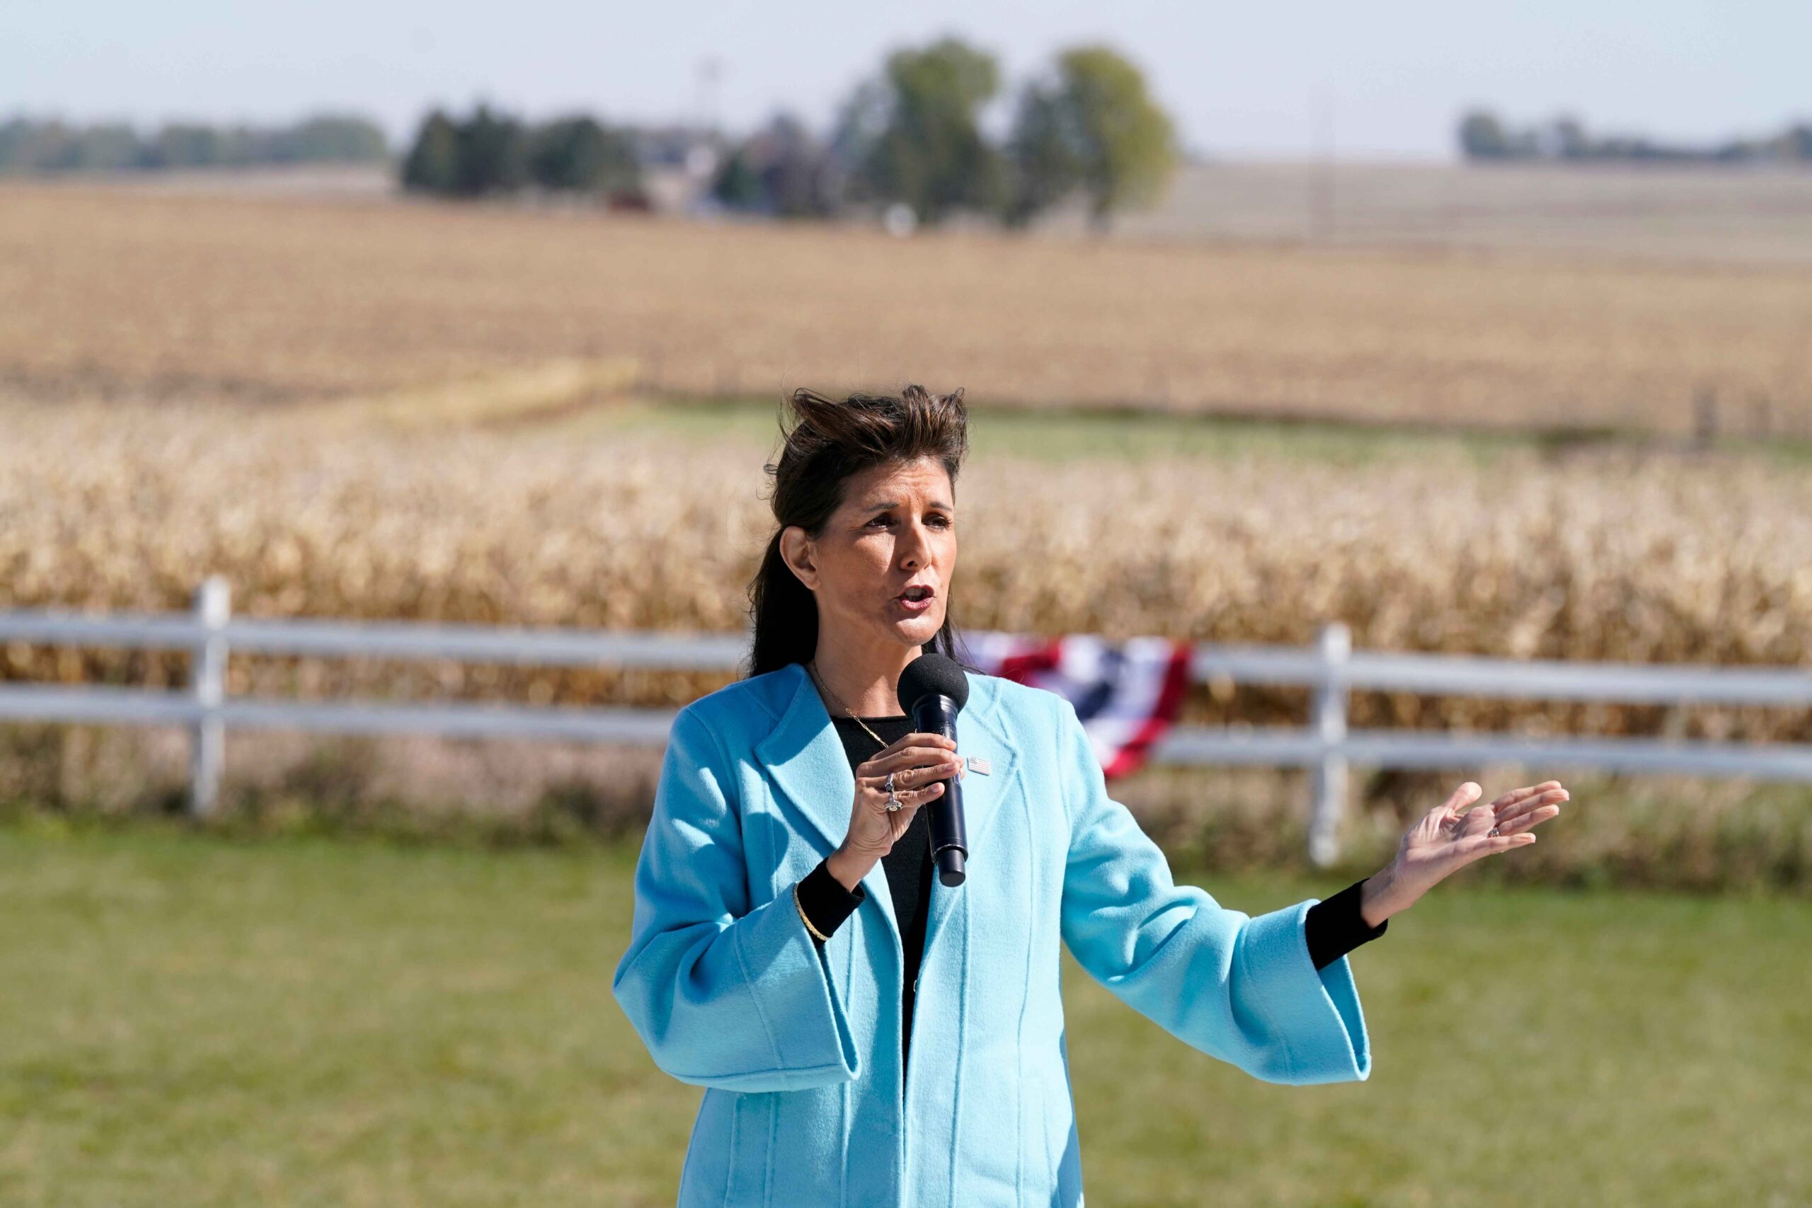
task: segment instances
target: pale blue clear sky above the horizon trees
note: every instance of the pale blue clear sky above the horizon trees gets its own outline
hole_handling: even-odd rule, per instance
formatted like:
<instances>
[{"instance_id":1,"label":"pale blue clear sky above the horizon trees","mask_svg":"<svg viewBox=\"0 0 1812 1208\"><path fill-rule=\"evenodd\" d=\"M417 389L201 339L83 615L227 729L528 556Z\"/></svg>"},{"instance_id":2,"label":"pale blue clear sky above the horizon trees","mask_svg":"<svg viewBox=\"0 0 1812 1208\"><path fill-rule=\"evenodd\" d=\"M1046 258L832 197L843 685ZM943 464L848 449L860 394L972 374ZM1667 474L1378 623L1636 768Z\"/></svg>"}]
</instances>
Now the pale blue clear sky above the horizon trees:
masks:
<instances>
[{"instance_id":1,"label":"pale blue clear sky above the horizon trees","mask_svg":"<svg viewBox=\"0 0 1812 1208\"><path fill-rule=\"evenodd\" d=\"M1138 60L1190 147L1450 158L1459 110L1567 109L1595 130L1716 139L1812 118L1808 0L1254 0L913 5L737 0L0 0L0 116L288 121L335 107L393 141L431 103L527 118L696 118L748 129L777 105L815 127L881 54L955 31L1013 85L1055 49Z\"/></svg>"}]
</instances>

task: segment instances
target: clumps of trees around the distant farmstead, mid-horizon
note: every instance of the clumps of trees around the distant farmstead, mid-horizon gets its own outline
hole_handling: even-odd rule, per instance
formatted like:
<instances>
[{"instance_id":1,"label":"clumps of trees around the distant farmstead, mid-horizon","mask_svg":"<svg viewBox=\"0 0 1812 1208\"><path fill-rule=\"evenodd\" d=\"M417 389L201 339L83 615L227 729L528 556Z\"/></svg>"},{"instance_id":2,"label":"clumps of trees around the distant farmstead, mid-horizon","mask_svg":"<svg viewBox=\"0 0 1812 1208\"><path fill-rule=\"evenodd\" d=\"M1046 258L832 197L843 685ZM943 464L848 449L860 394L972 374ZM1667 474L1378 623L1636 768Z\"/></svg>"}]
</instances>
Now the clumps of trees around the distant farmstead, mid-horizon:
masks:
<instances>
[{"instance_id":1,"label":"clumps of trees around the distant farmstead, mid-horizon","mask_svg":"<svg viewBox=\"0 0 1812 1208\"><path fill-rule=\"evenodd\" d=\"M904 208L915 223L977 214L1024 226L1080 197L1093 223L1161 194L1181 159L1176 129L1143 72L1104 45L1058 54L1013 96L1002 139L982 130L1000 100L998 60L959 38L893 51L814 134L776 114L719 147L708 196L728 210L826 217L852 206ZM540 127L480 105L431 112L410 149L406 188L473 197L535 185L632 194L629 130L574 116Z\"/></svg>"}]
</instances>

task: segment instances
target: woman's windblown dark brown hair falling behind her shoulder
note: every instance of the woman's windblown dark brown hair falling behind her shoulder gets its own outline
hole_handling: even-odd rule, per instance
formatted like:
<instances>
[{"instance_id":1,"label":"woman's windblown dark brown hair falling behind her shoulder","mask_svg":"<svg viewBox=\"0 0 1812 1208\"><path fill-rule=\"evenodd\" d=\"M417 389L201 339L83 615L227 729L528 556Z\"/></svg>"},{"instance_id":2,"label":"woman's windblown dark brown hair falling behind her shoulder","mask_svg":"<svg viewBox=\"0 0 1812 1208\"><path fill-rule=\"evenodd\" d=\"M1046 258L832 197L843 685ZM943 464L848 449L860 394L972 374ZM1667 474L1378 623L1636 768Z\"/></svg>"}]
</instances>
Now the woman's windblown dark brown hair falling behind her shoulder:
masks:
<instances>
[{"instance_id":1,"label":"woman's windblown dark brown hair falling behind her shoulder","mask_svg":"<svg viewBox=\"0 0 1812 1208\"><path fill-rule=\"evenodd\" d=\"M747 677L806 663L817 652L817 598L781 558L781 532L799 525L817 538L843 503L848 478L872 465L904 465L933 456L944 464L955 491L957 471L969 451L960 388L931 395L924 386L908 386L899 395L855 393L843 400L801 388L786 397L786 406L794 424L788 429L781 418L779 462L763 467L774 475L770 502L777 525L761 556L761 569L748 583L754 645ZM966 670L980 670L962 648L949 599L944 601L944 625L928 648Z\"/></svg>"}]
</instances>

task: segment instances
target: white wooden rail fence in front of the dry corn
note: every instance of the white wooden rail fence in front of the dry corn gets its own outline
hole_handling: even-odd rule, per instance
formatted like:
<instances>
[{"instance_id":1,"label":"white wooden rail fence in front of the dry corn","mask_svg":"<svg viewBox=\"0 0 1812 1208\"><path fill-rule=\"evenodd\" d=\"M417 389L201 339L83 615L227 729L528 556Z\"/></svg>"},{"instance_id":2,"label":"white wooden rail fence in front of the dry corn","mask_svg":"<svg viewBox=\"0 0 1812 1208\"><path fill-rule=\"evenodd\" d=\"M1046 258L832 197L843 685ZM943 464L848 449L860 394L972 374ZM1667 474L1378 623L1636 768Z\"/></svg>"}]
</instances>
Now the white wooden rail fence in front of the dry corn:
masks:
<instances>
[{"instance_id":1,"label":"white wooden rail fence in front of the dry corn","mask_svg":"<svg viewBox=\"0 0 1812 1208\"><path fill-rule=\"evenodd\" d=\"M674 714L638 708L377 701L281 701L225 694L230 650L259 654L381 656L535 666L654 666L725 670L748 650L747 634L600 632L393 621L232 619L226 581L210 578L194 612L92 616L0 612L0 641L65 647L181 648L192 652L187 690L0 685L0 723L56 721L174 724L192 733L190 808L214 810L225 732L313 730L339 733L440 733L458 737L580 739L654 744ZM1651 666L1553 663L1354 650L1343 625L1312 648L1212 647L1192 654L1196 679L1294 685L1312 690L1306 728L1172 726L1151 752L1158 762L1308 768L1314 804L1308 855L1339 855L1350 764L1462 768L1517 762L1611 772L1678 772L1812 782L1812 746L1669 741L1640 737L1528 737L1422 730L1352 730L1346 699L1359 690L1680 705L1812 706L1812 672L1799 668Z\"/></svg>"}]
</instances>

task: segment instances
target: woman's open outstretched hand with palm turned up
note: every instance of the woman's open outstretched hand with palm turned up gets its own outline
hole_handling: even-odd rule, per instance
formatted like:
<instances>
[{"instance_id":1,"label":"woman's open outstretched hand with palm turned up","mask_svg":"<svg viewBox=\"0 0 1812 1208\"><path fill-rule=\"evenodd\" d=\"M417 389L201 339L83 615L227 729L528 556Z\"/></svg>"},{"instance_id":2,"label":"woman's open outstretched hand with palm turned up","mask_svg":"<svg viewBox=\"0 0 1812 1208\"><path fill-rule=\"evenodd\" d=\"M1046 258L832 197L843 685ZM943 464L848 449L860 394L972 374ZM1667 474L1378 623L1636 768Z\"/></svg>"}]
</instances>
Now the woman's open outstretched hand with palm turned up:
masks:
<instances>
[{"instance_id":1,"label":"woman's open outstretched hand with palm turned up","mask_svg":"<svg viewBox=\"0 0 1812 1208\"><path fill-rule=\"evenodd\" d=\"M1441 878L1466 864L1535 842L1531 828L1560 813L1567 790L1560 781L1513 788L1489 806L1475 806L1480 790L1466 781L1435 810L1404 831L1397 855L1359 889L1359 913L1375 927L1408 909Z\"/></svg>"}]
</instances>

